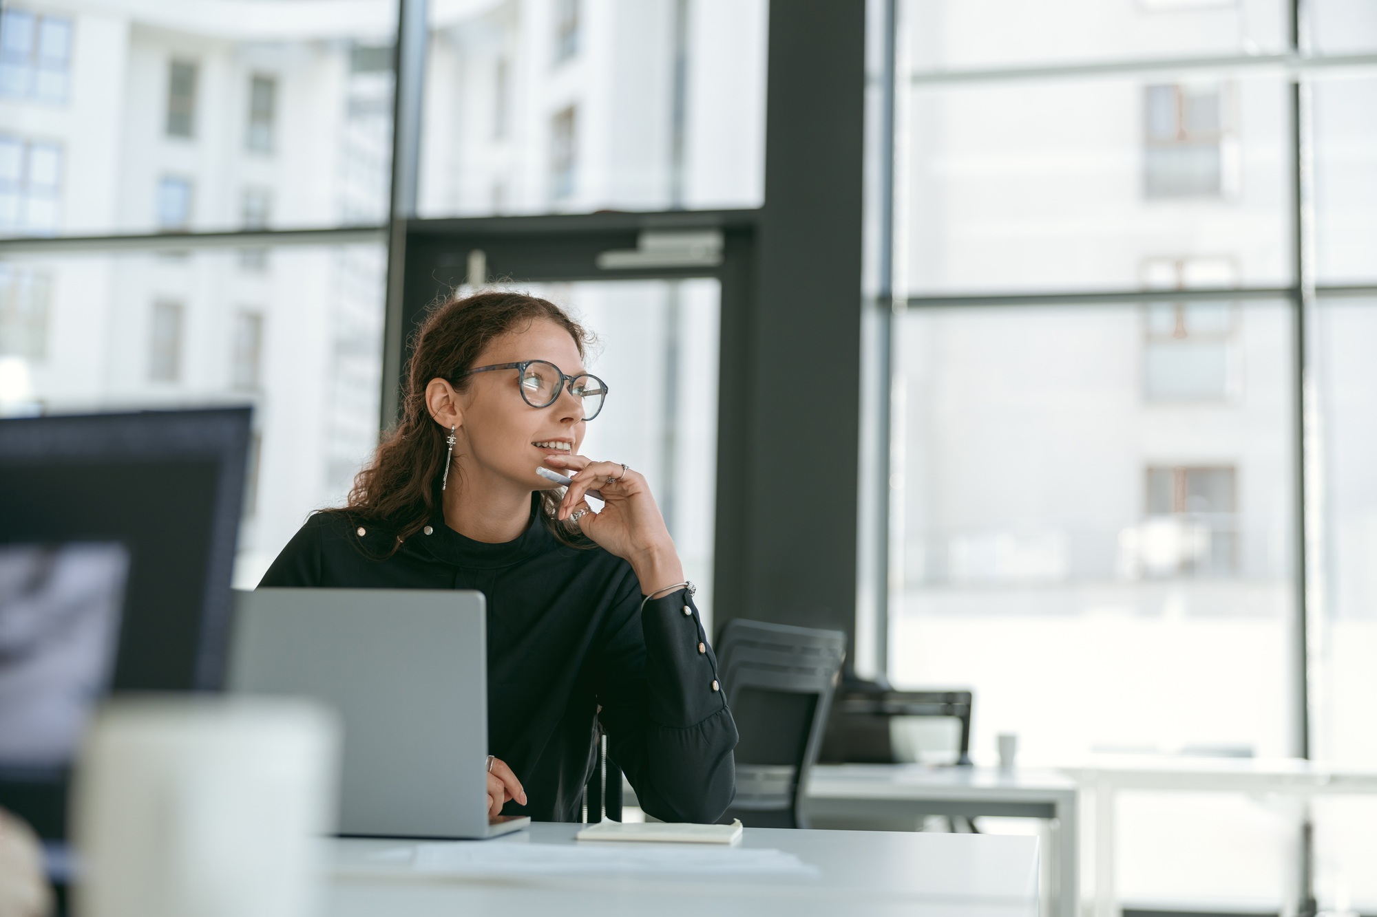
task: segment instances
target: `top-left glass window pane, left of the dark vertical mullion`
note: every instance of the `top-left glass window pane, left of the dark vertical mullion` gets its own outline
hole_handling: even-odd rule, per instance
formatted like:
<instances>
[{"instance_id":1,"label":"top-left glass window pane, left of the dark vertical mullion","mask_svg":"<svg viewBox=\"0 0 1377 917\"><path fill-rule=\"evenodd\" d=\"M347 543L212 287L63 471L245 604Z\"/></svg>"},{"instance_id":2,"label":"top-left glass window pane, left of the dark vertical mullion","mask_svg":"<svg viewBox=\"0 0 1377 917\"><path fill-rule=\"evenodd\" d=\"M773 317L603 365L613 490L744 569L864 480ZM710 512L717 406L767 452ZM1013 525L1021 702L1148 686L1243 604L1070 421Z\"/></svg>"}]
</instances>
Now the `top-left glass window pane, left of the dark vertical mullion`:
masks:
<instances>
[{"instance_id":1,"label":"top-left glass window pane, left of the dark vertical mullion","mask_svg":"<svg viewBox=\"0 0 1377 917\"><path fill-rule=\"evenodd\" d=\"M187 231L238 229L245 185L270 229L386 220L397 0L29 0L3 26L0 132L63 150L63 182L0 234L165 229L165 175L197 189Z\"/></svg>"}]
</instances>

